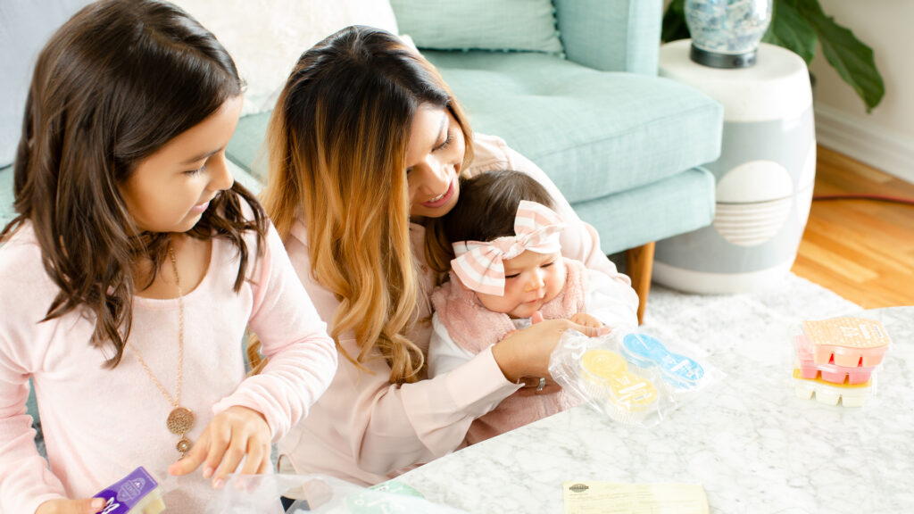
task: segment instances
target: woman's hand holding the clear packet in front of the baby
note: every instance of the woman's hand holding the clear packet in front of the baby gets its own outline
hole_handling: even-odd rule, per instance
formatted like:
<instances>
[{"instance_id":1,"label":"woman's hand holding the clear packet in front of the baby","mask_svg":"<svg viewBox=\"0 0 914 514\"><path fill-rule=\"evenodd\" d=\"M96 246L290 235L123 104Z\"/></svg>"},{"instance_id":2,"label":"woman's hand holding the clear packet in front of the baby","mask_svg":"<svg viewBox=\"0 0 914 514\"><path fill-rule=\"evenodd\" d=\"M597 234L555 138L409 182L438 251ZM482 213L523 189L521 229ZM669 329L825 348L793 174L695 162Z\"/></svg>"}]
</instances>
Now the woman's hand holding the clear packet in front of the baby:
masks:
<instances>
[{"instance_id":1,"label":"woman's hand holding the clear packet in front of the baby","mask_svg":"<svg viewBox=\"0 0 914 514\"><path fill-rule=\"evenodd\" d=\"M542 319L542 316L538 319ZM597 336L600 331L597 327L585 327L570 319L539 322L534 319L533 323L530 327L508 334L492 347L495 363L502 369L507 380L517 383L523 377L548 377L549 356L566 330L578 330L588 337ZM537 379L537 383L538 381Z\"/></svg>"}]
</instances>

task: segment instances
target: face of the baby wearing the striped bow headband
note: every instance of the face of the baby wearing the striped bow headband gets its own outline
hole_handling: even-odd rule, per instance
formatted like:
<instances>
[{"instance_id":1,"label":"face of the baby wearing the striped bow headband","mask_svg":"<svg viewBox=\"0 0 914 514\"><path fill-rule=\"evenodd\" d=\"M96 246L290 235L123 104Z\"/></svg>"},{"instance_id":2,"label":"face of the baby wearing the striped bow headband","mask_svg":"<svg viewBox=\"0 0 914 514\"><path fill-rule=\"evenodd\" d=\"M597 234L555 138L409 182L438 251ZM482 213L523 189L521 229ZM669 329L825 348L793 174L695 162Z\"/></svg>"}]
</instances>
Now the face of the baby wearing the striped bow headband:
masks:
<instances>
[{"instance_id":1,"label":"face of the baby wearing the striped bow headband","mask_svg":"<svg viewBox=\"0 0 914 514\"><path fill-rule=\"evenodd\" d=\"M513 318L533 316L565 288L565 261L561 252L527 250L505 259L505 294L476 293L485 308Z\"/></svg>"}]
</instances>

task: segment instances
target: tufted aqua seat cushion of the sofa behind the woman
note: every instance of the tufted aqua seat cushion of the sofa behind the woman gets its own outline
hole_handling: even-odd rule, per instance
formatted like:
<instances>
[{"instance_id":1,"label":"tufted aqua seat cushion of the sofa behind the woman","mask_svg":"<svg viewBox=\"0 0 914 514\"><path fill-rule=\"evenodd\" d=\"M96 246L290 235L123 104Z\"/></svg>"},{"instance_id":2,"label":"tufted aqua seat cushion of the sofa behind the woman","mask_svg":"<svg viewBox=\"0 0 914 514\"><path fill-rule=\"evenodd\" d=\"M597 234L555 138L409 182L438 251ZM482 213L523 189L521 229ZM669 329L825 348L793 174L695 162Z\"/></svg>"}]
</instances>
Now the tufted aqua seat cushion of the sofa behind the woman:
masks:
<instances>
[{"instance_id":1,"label":"tufted aqua seat cushion of the sofa behind the woman","mask_svg":"<svg viewBox=\"0 0 914 514\"><path fill-rule=\"evenodd\" d=\"M720 104L673 80L537 53L423 52L473 130L505 139L575 204L714 161Z\"/></svg>"}]
</instances>

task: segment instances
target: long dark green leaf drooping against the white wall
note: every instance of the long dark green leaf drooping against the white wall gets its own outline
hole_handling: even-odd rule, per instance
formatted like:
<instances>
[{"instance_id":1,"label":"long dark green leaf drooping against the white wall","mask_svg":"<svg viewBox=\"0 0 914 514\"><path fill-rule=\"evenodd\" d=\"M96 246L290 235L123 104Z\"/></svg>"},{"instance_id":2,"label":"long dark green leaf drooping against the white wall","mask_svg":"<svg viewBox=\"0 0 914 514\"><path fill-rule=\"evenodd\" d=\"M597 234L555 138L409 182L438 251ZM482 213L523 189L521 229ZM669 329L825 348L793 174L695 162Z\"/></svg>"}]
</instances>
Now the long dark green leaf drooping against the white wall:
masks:
<instances>
[{"instance_id":1,"label":"long dark green leaf drooping against the white wall","mask_svg":"<svg viewBox=\"0 0 914 514\"><path fill-rule=\"evenodd\" d=\"M886 93L882 75L873 59L873 48L860 42L847 28L834 23L834 17L825 16L818 0L798 2L797 11L809 20L818 35L825 59L863 99L866 112L872 112Z\"/></svg>"}]
</instances>

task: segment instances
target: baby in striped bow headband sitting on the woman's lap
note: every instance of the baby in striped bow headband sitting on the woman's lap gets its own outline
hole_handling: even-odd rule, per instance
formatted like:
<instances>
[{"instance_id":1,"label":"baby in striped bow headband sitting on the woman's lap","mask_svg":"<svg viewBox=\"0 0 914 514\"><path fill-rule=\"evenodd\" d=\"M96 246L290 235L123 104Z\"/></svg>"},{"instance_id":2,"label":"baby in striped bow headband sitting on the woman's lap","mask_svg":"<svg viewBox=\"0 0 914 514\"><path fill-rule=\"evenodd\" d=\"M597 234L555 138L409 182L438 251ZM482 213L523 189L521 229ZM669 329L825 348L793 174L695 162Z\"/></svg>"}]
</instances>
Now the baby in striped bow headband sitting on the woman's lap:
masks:
<instances>
[{"instance_id":1,"label":"baby in striped bow headband sitting on the woman's lap","mask_svg":"<svg viewBox=\"0 0 914 514\"><path fill-rule=\"evenodd\" d=\"M451 280L431 294L430 377L529 327L531 318L568 318L603 331L638 326L631 288L562 256L564 223L536 180L517 171L490 171L462 179L461 191L442 219L456 257ZM564 391L515 393L474 421L466 440L478 443L576 403Z\"/></svg>"}]
</instances>

